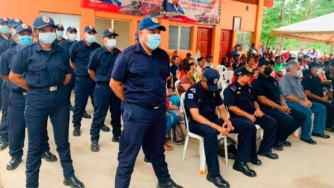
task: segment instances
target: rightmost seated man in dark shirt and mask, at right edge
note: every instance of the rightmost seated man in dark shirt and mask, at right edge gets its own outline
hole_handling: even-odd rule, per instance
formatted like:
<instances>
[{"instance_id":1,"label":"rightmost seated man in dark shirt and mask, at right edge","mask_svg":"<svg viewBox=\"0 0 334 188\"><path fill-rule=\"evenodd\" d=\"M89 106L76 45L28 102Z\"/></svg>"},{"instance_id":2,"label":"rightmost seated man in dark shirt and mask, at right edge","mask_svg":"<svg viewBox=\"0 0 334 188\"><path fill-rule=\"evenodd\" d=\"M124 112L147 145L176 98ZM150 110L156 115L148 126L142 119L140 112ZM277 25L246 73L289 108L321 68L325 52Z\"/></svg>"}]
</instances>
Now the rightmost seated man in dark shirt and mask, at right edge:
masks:
<instances>
[{"instance_id":1,"label":"rightmost seated man in dark shirt and mask, at right edge","mask_svg":"<svg viewBox=\"0 0 334 188\"><path fill-rule=\"evenodd\" d=\"M332 105L332 99L328 98L324 94L323 88L328 85L332 84L329 80L321 81L319 75L322 73L321 65L316 62L312 62L308 65L309 73L303 77L301 81L301 85L303 85L304 92L306 96L311 100L313 103L318 103L324 105L326 108L326 125L327 129L334 128L334 108ZM320 136L316 133L312 134L313 136Z\"/></svg>"}]
</instances>

